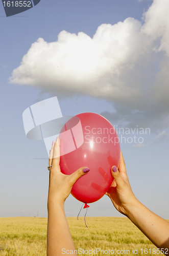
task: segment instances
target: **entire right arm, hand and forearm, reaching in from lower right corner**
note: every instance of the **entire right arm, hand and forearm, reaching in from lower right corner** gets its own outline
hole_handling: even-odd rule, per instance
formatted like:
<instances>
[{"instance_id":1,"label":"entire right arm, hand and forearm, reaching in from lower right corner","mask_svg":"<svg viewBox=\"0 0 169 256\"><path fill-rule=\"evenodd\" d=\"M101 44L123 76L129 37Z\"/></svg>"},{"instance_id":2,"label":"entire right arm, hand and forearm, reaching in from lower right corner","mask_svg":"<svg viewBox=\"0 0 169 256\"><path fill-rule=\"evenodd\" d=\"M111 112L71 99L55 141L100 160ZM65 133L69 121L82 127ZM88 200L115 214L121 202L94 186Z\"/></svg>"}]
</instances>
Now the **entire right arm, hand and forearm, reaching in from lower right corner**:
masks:
<instances>
[{"instance_id":1,"label":"entire right arm, hand and forearm, reaching in from lower right corner","mask_svg":"<svg viewBox=\"0 0 169 256\"><path fill-rule=\"evenodd\" d=\"M119 168L111 168L114 181L107 191L115 208L127 216L157 248L169 250L169 223L141 204L133 194L121 152ZM168 255L167 251L167 254Z\"/></svg>"}]
</instances>

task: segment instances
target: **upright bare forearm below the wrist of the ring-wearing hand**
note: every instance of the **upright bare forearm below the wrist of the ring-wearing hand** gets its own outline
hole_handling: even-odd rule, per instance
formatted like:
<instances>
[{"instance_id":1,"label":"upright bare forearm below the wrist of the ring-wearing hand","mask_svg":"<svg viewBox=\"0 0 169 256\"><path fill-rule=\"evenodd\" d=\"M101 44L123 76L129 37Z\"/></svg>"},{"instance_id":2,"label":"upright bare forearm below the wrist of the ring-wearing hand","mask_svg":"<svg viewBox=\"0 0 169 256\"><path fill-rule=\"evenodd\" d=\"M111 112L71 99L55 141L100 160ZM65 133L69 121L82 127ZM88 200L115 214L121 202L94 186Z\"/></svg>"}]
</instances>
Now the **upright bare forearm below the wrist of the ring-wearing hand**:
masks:
<instances>
[{"instance_id":1,"label":"upright bare forearm below the wrist of the ring-wearing hand","mask_svg":"<svg viewBox=\"0 0 169 256\"><path fill-rule=\"evenodd\" d=\"M64 212L64 203L48 202L47 256L60 256L63 250L75 250ZM72 252L72 251L71 251ZM70 252L70 253L71 253ZM76 253L71 253L77 255Z\"/></svg>"}]
</instances>

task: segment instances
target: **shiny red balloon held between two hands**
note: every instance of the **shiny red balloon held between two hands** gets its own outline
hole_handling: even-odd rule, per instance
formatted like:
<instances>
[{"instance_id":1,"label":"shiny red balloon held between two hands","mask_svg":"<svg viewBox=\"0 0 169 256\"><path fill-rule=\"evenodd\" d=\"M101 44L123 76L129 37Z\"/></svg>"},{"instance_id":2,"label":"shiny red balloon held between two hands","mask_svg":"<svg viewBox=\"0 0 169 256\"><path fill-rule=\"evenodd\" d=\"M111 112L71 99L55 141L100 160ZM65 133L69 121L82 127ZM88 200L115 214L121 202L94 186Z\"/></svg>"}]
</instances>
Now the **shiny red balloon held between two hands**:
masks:
<instances>
[{"instance_id":1,"label":"shiny red balloon held between two hands","mask_svg":"<svg viewBox=\"0 0 169 256\"><path fill-rule=\"evenodd\" d=\"M86 166L90 171L80 177L71 195L84 203L102 198L113 178L111 166L119 165L120 144L112 124L95 113L82 113L69 119L60 138L61 172L70 175Z\"/></svg>"}]
</instances>

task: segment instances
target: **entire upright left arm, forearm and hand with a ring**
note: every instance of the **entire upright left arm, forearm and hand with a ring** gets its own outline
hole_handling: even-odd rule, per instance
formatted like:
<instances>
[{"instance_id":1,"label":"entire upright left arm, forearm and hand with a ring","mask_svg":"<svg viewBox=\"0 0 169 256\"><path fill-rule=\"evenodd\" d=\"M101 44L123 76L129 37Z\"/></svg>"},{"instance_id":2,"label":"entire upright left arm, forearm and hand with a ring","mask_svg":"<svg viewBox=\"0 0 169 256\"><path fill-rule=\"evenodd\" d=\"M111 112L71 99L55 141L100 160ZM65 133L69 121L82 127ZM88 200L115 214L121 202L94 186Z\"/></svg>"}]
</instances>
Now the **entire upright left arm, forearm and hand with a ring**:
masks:
<instances>
[{"instance_id":1,"label":"entire upright left arm, forearm and hand with a ring","mask_svg":"<svg viewBox=\"0 0 169 256\"><path fill-rule=\"evenodd\" d=\"M65 216L64 202L74 183L89 171L88 168L82 167L71 175L64 175L60 171L59 162L60 140L57 138L52 146L49 160L49 165L52 164L52 167L47 201L47 256L60 256L62 252L77 255Z\"/></svg>"}]
</instances>

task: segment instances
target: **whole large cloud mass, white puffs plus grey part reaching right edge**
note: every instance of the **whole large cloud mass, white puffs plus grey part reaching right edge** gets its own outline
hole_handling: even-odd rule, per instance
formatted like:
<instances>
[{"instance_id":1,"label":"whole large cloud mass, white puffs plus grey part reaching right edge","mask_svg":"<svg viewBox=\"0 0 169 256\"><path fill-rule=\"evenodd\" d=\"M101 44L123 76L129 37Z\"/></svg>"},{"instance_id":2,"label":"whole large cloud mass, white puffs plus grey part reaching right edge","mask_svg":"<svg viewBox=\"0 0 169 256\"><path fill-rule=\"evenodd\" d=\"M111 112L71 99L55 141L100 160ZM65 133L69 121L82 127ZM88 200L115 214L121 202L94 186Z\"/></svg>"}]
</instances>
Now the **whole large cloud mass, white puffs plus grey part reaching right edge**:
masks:
<instances>
[{"instance_id":1,"label":"whole large cloud mass, white puffs plus grey part reaching right edge","mask_svg":"<svg viewBox=\"0 0 169 256\"><path fill-rule=\"evenodd\" d=\"M65 96L110 100L118 121L121 112L122 122L131 126L135 117L144 126L163 129L169 110L168 12L168 0L154 0L143 13L143 25L127 18L102 24L92 38L66 31L55 42L39 38L9 80Z\"/></svg>"}]
</instances>

